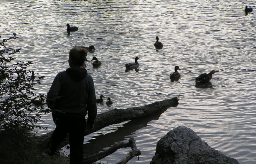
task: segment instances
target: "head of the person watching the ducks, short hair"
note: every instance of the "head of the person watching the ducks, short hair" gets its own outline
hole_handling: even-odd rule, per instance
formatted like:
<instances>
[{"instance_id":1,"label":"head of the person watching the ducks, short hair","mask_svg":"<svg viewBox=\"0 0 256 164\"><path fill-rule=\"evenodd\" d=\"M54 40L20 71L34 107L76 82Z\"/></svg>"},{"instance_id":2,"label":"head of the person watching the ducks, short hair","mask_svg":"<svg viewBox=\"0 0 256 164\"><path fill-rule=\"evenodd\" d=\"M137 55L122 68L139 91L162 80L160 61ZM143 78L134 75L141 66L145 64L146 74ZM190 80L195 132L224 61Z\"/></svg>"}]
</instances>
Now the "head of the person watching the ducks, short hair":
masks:
<instances>
[{"instance_id":1,"label":"head of the person watching the ducks, short hair","mask_svg":"<svg viewBox=\"0 0 256 164\"><path fill-rule=\"evenodd\" d=\"M83 48L73 47L69 51L68 64L72 68L80 68L84 66L84 61L86 60L87 52Z\"/></svg>"}]
</instances>

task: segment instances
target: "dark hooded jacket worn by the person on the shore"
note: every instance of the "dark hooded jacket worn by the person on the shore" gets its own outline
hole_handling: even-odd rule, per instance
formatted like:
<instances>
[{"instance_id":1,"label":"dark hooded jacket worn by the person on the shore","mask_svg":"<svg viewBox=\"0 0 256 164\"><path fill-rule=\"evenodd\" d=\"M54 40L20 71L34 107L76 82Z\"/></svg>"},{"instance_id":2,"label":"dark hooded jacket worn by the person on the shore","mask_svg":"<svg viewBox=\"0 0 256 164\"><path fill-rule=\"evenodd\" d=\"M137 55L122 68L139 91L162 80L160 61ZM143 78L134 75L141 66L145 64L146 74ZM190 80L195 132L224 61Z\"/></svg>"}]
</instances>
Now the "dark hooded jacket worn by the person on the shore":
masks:
<instances>
[{"instance_id":1,"label":"dark hooded jacket worn by the person on the shore","mask_svg":"<svg viewBox=\"0 0 256 164\"><path fill-rule=\"evenodd\" d=\"M86 69L68 68L56 75L47 93L47 105L52 110L86 115L94 120L97 115L92 76Z\"/></svg>"}]
</instances>

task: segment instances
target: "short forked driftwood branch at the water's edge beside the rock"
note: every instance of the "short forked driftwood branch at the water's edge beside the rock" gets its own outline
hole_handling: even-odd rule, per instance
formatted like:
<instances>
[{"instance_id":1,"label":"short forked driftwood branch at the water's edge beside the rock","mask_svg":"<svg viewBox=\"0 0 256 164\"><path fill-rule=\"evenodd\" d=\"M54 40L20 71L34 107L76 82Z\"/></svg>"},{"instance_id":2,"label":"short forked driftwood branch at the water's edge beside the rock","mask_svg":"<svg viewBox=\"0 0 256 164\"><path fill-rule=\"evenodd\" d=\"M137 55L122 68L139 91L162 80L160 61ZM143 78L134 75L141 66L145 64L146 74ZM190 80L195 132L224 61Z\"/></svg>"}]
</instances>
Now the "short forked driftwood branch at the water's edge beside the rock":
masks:
<instances>
[{"instance_id":1,"label":"short forked driftwood branch at the water's edge beside the rock","mask_svg":"<svg viewBox=\"0 0 256 164\"><path fill-rule=\"evenodd\" d=\"M125 164L133 157L141 154L140 150L137 149L135 144L135 139L132 137L129 139L129 142L116 142L113 146L111 146L108 150L99 152L97 154L84 157L83 164L89 164L92 162L96 162L104 157L107 157L109 154L116 152L116 150L121 148L131 147L132 151L130 151L122 160L118 162L118 164Z\"/></svg>"}]
</instances>

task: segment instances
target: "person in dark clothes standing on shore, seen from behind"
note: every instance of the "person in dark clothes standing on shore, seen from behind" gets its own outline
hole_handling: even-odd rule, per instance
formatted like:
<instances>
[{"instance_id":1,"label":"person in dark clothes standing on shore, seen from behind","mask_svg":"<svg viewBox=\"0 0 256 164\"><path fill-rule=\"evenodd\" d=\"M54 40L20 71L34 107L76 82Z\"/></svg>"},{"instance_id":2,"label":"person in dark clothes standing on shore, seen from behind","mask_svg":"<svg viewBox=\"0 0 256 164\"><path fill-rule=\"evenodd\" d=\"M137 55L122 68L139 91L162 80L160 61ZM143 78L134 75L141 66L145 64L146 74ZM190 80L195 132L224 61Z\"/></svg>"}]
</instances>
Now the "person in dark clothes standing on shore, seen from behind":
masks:
<instances>
[{"instance_id":1,"label":"person in dark clothes standing on shore, seen from behind","mask_svg":"<svg viewBox=\"0 0 256 164\"><path fill-rule=\"evenodd\" d=\"M70 68L56 75L46 99L56 125L48 144L49 155L57 151L68 134L70 164L82 163L85 129L92 131L97 115L93 79L85 69L86 55L87 52L79 47L69 51Z\"/></svg>"}]
</instances>

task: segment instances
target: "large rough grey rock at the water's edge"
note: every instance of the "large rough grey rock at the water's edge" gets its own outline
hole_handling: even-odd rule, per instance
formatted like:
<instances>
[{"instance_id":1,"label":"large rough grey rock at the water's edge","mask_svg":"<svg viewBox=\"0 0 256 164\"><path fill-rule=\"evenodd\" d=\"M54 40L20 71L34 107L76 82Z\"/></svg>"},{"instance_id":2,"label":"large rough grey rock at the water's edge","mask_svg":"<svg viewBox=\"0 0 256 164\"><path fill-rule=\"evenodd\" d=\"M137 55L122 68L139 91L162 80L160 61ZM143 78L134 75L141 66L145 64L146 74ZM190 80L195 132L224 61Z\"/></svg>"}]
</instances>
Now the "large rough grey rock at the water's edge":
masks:
<instances>
[{"instance_id":1,"label":"large rough grey rock at the water's edge","mask_svg":"<svg viewBox=\"0 0 256 164\"><path fill-rule=\"evenodd\" d=\"M202 141L196 133L179 126L169 131L156 145L150 164L239 164Z\"/></svg>"}]
</instances>

